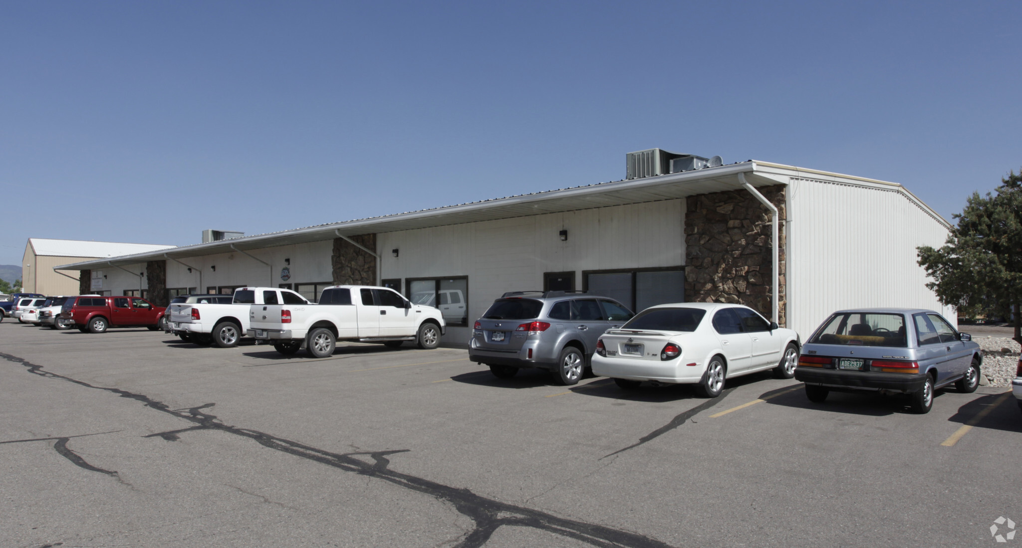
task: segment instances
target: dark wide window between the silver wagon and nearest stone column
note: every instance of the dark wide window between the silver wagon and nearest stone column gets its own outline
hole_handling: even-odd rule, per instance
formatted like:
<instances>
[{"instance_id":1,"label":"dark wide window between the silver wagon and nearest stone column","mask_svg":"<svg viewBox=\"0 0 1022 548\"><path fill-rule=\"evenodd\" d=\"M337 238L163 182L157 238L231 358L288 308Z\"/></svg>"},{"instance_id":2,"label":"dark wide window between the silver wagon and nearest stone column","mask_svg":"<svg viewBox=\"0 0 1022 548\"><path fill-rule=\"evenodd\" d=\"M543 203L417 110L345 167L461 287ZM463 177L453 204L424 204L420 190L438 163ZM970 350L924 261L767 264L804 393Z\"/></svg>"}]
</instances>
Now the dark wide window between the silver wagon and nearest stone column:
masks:
<instances>
[{"instance_id":1,"label":"dark wide window between the silver wagon and nearest stone column","mask_svg":"<svg viewBox=\"0 0 1022 548\"><path fill-rule=\"evenodd\" d=\"M650 306L685 302L685 267L584 271L583 289L641 312Z\"/></svg>"}]
</instances>

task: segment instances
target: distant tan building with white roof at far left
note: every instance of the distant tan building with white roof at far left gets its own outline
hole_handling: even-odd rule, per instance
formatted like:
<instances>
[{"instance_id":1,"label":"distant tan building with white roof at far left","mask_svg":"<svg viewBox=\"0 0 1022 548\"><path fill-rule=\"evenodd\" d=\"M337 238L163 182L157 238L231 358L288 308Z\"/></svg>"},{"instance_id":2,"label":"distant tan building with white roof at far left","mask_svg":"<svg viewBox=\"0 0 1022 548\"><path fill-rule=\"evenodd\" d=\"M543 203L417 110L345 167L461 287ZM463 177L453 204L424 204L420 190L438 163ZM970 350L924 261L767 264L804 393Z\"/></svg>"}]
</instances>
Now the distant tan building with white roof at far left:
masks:
<instances>
[{"instance_id":1,"label":"distant tan building with white roof at far left","mask_svg":"<svg viewBox=\"0 0 1022 548\"><path fill-rule=\"evenodd\" d=\"M112 287L109 277L112 273L118 279L127 277L131 280L130 287L138 287L139 296L147 289L145 276L139 276L147 268L147 261L139 264L110 266L109 270L88 270L90 277L96 272L99 282L80 280L83 270L57 270L54 266L68 262L120 257L136 253L148 253L162 249L173 249L175 246L154 244L124 244L119 242L91 242L82 240L50 240L45 238L29 238L25 246L25 256L21 259L21 287L26 293L42 293L44 295L79 295L81 293L109 293L105 285ZM106 278L102 278L105 276ZM98 286L98 287L97 287Z\"/></svg>"}]
</instances>

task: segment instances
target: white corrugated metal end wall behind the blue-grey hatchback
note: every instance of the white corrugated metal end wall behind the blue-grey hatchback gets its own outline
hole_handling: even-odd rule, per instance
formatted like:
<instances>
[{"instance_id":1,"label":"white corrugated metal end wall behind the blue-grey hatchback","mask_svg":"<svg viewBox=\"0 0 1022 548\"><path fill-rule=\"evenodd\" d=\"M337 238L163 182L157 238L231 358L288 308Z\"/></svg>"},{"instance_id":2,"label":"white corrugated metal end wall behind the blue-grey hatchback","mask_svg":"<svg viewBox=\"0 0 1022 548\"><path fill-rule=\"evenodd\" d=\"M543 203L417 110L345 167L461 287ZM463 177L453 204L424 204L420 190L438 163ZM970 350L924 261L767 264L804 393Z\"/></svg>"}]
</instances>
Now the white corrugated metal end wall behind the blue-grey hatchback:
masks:
<instances>
[{"instance_id":1,"label":"white corrugated metal end wall behind the blue-grey hatchback","mask_svg":"<svg viewBox=\"0 0 1022 548\"><path fill-rule=\"evenodd\" d=\"M947 229L900 191L791 178L788 222L789 320L803 340L841 308L929 308L956 321L916 262Z\"/></svg>"}]
</instances>

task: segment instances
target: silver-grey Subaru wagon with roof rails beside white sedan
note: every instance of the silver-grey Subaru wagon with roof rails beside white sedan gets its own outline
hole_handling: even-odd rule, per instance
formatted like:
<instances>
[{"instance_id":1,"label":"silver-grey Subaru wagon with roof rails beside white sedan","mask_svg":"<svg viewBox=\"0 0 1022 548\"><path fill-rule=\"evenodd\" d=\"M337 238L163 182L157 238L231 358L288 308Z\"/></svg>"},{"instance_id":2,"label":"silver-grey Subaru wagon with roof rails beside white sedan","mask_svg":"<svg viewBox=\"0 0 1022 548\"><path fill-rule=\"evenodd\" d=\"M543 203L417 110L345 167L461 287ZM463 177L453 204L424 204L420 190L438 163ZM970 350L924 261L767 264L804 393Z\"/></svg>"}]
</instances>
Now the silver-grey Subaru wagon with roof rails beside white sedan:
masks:
<instances>
[{"instance_id":1,"label":"silver-grey Subaru wagon with roof rails beside white sedan","mask_svg":"<svg viewBox=\"0 0 1022 548\"><path fill-rule=\"evenodd\" d=\"M550 370L562 385L582 379L603 332L632 316L621 303L571 291L505 293L475 321L468 359L501 379L521 367Z\"/></svg>"}]
</instances>

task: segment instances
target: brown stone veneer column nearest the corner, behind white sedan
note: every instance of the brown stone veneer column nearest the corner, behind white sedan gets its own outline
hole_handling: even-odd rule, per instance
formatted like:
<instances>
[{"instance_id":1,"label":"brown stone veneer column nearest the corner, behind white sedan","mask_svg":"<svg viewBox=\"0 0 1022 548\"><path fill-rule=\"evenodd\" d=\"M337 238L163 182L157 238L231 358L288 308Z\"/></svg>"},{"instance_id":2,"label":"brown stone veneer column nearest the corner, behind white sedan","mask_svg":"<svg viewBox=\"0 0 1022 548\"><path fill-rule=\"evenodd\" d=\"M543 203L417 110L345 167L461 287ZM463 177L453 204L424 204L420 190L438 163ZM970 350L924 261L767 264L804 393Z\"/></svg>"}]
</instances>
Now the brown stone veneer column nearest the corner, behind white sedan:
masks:
<instances>
[{"instance_id":1,"label":"brown stone veneer column nearest the corner, behind white sedan","mask_svg":"<svg viewBox=\"0 0 1022 548\"><path fill-rule=\"evenodd\" d=\"M759 187L778 208L778 323L787 322L785 186ZM690 196L685 215L685 297L744 304L771 317L771 215L746 190Z\"/></svg>"}]
</instances>

